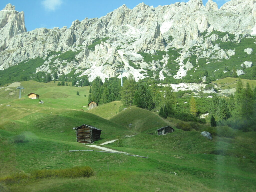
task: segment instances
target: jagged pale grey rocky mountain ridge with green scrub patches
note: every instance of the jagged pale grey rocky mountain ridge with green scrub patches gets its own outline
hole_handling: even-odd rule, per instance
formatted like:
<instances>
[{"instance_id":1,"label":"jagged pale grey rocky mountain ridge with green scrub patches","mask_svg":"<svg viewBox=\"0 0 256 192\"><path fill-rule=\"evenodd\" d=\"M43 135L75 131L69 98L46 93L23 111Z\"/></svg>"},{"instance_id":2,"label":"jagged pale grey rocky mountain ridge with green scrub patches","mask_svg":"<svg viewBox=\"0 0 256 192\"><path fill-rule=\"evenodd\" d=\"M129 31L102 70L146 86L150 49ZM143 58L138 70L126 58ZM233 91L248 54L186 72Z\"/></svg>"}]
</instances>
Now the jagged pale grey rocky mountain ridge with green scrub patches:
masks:
<instances>
[{"instance_id":1,"label":"jagged pale grey rocky mountain ridge with green scrub patches","mask_svg":"<svg viewBox=\"0 0 256 192\"><path fill-rule=\"evenodd\" d=\"M98 75L103 80L120 77L115 71L124 68L136 80L196 81L205 70L214 69L214 76L219 71L232 73L229 68L234 66L239 75L244 73L244 62L254 64L255 0L231 0L220 9L212 0L206 6L201 0L155 8L144 3L133 9L122 5L101 18L75 20L70 28L32 31L26 31L24 13L14 9L8 4L0 11L0 70L39 57L43 62L35 73L88 75L92 81ZM245 42L248 38L252 44ZM236 55L239 43L252 51ZM244 59L220 66L232 56Z\"/></svg>"}]
</instances>

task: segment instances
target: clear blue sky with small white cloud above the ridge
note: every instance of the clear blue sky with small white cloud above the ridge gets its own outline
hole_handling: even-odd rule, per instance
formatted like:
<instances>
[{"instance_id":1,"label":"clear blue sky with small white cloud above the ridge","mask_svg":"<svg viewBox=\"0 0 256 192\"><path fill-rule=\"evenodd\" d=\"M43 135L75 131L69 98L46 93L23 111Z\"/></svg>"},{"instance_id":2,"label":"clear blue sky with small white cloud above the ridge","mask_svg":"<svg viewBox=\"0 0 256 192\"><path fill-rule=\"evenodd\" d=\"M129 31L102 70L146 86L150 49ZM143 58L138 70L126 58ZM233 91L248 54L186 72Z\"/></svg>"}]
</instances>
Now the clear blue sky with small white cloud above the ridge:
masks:
<instances>
[{"instance_id":1,"label":"clear blue sky with small white cloud above the ridge","mask_svg":"<svg viewBox=\"0 0 256 192\"><path fill-rule=\"evenodd\" d=\"M208 0L202 0L205 5ZM229 0L213 0L221 7ZM17 11L25 12L25 25L28 31L35 28L46 27L70 27L71 23L78 19L102 17L114 9L125 4L130 9L139 3L154 7L158 5L168 5L179 0L1 0L0 10L6 4L11 3L16 6ZM188 0L182 1L188 2Z\"/></svg>"}]
</instances>

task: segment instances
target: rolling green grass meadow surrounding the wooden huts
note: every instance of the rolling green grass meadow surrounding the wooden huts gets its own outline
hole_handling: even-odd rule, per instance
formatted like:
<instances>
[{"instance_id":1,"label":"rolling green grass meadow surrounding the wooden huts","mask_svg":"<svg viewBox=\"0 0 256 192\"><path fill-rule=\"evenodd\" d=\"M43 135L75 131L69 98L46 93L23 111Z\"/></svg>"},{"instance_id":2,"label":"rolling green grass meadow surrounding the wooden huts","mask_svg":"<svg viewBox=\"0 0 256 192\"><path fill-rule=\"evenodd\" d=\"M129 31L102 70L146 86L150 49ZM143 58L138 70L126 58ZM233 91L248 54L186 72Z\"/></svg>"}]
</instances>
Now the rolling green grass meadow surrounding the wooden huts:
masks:
<instances>
[{"instance_id":1,"label":"rolling green grass meadow surrounding the wooden huts","mask_svg":"<svg viewBox=\"0 0 256 192\"><path fill-rule=\"evenodd\" d=\"M31 80L21 86L21 99L17 86L0 89L0 191L256 190L255 132L237 131L234 138L208 140L199 131L177 129L180 120L174 118L164 120L135 106L119 112L120 101L88 110L90 87ZM29 99L30 92L44 103ZM105 147L148 158L96 152L76 142L72 128L81 124L103 131L95 145L120 138L119 145ZM156 129L166 125L175 131L158 136ZM92 176L33 177L36 171L84 166L92 168Z\"/></svg>"}]
</instances>

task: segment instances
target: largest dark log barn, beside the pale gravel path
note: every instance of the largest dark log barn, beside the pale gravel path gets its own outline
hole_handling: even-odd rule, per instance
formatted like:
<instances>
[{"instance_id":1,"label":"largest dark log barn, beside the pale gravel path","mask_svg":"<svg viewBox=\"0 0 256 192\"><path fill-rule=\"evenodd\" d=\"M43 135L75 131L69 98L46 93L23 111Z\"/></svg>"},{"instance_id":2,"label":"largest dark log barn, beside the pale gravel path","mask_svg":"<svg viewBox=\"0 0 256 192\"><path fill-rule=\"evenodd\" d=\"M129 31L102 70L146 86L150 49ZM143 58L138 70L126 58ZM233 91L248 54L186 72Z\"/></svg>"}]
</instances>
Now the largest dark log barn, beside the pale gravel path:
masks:
<instances>
[{"instance_id":1,"label":"largest dark log barn, beside the pale gravel path","mask_svg":"<svg viewBox=\"0 0 256 192\"><path fill-rule=\"evenodd\" d=\"M86 124L73 129L76 130L77 142L79 143L93 143L99 140L102 132L100 129Z\"/></svg>"}]
</instances>

